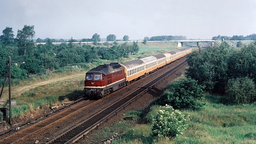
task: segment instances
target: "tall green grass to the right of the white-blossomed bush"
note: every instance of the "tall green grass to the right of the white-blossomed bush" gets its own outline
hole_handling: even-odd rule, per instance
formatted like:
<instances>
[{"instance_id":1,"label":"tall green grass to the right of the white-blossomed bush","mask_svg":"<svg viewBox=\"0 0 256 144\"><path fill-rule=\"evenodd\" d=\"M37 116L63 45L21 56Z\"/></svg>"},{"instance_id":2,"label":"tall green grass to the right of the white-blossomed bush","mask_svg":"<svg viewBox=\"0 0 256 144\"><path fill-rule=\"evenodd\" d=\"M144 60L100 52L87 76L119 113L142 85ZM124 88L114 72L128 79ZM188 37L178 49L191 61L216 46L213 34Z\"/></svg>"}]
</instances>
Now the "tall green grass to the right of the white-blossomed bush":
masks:
<instances>
[{"instance_id":1,"label":"tall green grass to the right of the white-blossomed bush","mask_svg":"<svg viewBox=\"0 0 256 144\"><path fill-rule=\"evenodd\" d=\"M186 111L190 128L176 139L177 143L256 143L256 107L223 105L208 95L206 108Z\"/></svg>"}]
</instances>

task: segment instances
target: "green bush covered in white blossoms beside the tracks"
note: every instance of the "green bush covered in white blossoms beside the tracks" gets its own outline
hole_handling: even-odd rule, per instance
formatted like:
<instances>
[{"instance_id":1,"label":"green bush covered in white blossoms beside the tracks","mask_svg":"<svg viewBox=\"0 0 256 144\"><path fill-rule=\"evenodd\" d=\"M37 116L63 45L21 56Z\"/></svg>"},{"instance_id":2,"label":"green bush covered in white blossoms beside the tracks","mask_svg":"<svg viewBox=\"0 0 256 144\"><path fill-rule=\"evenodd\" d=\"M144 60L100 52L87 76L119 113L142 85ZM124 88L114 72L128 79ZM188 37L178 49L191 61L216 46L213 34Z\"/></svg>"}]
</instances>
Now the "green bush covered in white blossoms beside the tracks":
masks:
<instances>
[{"instance_id":1,"label":"green bush covered in white blossoms beside the tracks","mask_svg":"<svg viewBox=\"0 0 256 144\"><path fill-rule=\"evenodd\" d=\"M153 121L153 135L158 137L173 138L182 134L182 131L188 127L188 117L180 111L174 110L172 106L160 106L160 111L156 114L156 120Z\"/></svg>"}]
</instances>

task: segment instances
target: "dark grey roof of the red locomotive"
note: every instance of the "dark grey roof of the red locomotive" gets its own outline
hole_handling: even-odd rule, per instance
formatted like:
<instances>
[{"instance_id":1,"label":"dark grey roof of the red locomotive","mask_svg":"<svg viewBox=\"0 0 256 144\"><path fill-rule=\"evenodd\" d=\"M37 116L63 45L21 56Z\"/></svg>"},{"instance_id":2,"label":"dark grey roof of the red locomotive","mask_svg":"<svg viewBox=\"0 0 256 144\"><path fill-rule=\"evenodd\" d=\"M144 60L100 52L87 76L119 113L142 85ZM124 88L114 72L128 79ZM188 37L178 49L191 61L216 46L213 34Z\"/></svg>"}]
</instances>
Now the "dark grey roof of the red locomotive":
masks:
<instances>
[{"instance_id":1,"label":"dark grey roof of the red locomotive","mask_svg":"<svg viewBox=\"0 0 256 144\"><path fill-rule=\"evenodd\" d=\"M104 75L108 75L121 70L124 70L124 67L122 67L119 63L111 63L99 65L96 68L92 68L87 73L102 73Z\"/></svg>"}]
</instances>

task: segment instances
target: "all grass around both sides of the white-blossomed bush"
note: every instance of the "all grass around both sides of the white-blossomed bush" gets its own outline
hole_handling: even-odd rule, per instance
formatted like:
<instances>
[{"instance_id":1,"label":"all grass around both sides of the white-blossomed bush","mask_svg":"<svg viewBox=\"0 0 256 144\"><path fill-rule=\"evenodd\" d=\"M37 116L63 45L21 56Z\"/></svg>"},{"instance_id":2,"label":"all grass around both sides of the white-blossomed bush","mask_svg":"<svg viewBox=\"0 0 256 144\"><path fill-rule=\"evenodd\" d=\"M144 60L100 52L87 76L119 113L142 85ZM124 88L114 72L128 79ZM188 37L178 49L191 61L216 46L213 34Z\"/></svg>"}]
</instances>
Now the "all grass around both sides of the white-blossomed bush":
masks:
<instances>
[{"instance_id":1,"label":"all grass around both sides of the white-blossomed bush","mask_svg":"<svg viewBox=\"0 0 256 144\"><path fill-rule=\"evenodd\" d=\"M190 116L189 127L175 139L156 138L152 136L152 117L158 111L153 106L140 123L141 111L131 111L125 116L137 117L134 121L120 120L111 127L105 127L91 141L110 138L115 133L120 136L112 144L255 144L256 143L256 107L255 104L224 105L218 102L221 96L207 94L205 108L200 111L184 110ZM125 117L124 116L124 117ZM126 124L128 122L128 124ZM120 131L120 128L122 131ZM111 129L111 131L106 131Z\"/></svg>"}]
</instances>

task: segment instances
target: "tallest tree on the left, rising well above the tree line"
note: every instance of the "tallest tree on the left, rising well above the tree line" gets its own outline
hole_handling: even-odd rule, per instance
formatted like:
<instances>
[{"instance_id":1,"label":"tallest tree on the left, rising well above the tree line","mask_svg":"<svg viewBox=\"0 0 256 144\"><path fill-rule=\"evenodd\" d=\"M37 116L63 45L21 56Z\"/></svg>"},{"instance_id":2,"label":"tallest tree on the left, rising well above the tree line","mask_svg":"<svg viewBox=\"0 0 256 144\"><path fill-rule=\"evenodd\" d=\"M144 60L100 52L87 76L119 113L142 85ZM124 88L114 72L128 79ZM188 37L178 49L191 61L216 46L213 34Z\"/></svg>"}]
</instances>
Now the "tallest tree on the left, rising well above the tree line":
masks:
<instances>
[{"instance_id":1,"label":"tallest tree on the left, rising well above the tree line","mask_svg":"<svg viewBox=\"0 0 256 144\"><path fill-rule=\"evenodd\" d=\"M35 36L34 26L24 25L22 30L18 30L16 39L18 40L18 45L20 47L19 54L25 55L27 50L29 50L30 54L34 48L33 37Z\"/></svg>"}]
</instances>

